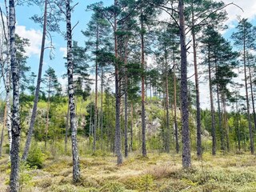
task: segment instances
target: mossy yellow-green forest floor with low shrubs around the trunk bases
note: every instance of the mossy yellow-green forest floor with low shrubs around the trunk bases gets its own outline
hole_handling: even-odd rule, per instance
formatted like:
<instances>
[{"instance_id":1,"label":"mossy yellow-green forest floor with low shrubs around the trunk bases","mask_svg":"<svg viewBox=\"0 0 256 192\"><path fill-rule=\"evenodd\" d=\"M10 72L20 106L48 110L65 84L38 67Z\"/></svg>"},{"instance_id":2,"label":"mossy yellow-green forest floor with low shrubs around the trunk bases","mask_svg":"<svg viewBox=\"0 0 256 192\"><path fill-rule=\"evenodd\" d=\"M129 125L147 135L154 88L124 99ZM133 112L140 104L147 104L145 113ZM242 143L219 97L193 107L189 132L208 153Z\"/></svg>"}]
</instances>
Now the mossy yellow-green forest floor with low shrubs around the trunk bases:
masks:
<instances>
[{"instance_id":1,"label":"mossy yellow-green forest floor with low shrubs around the trunk bases","mask_svg":"<svg viewBox=\"0 0 256 192\"><path fill-rule=\"evenodd\" d=\"M9 158L0 159L0 191L6 191ZM192 168L182 170L179 154L130 154L122 166L113 155L80 158L81 181L72 183L72 158L46 159L42 169L22 165L21 191L256 191L256 158L250 154L192 155Z\"/></svg>"}]
</instances>

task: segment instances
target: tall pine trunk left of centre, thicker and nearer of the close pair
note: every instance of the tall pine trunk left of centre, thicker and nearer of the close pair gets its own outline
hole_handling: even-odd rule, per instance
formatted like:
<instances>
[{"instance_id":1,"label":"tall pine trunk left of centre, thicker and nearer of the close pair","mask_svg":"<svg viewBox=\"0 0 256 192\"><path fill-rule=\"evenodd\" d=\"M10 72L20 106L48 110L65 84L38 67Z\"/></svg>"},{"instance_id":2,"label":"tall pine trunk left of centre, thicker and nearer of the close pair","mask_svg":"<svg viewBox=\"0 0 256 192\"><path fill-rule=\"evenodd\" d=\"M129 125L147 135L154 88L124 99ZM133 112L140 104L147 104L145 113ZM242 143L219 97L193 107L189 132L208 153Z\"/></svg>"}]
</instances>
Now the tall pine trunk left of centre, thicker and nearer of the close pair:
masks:
<instances>
[{"instance_id":1,"label":"tall pine trunk left of centre, thicker and nearer of the close pair","mask_svg":"<svg viewBox=\"0 0 256 192\"><path fill-rule=\"evenodd\" d=\"M114 6L118 6L118 0L114 0ZM117 13L114 13L114 81L115 81L115 153L118 158L118 165L122 164L122 138L120 127L120 90L119 90L119 69L118 69L118 35L117 35Z\"/></svg>"}]
</instances>

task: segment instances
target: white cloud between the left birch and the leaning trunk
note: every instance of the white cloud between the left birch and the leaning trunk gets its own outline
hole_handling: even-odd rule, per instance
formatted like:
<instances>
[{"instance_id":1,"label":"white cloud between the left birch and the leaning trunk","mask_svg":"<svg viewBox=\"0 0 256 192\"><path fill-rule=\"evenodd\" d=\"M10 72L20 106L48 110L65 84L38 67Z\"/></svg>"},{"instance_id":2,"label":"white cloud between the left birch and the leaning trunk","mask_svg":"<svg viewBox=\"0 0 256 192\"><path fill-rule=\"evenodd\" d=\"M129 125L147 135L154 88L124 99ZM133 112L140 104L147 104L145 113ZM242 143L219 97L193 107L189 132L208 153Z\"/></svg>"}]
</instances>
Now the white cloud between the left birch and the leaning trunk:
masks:
<instances>
[{"instance_id":1,"label":"white cloud between the left birch and the leaning trunk","mask_svg":"<svg viewBox=\"0 0 256 192\"><path fill-rule=\"evenodd\" d=\"M26 26L16 26L16 33L22 38L30 40L30 46L26 46L26 55L39 55L42 44L42 32L40 30L26 30Z\"/></svg>"}]
</instances>

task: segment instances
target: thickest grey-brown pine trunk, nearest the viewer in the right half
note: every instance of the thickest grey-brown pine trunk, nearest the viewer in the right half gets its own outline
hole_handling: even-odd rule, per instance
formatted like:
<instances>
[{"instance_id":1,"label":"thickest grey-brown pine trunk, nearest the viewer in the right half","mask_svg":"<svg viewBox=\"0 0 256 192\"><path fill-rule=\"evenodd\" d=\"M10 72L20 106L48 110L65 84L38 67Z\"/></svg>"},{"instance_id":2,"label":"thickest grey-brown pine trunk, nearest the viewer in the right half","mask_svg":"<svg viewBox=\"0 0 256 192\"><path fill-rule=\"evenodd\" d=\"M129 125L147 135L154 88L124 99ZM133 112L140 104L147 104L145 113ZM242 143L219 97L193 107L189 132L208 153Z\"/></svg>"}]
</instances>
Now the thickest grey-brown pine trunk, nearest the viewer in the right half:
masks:
<instances>
[{"instance_id":1,"label":"thickest grey-brown pine trunk, nearest the viewer in the right half","mask_svg":"<svg viewBox=\"0 0 256 192\"><path fill-rule=\"evenodd\" d=\"M190 156L190 129L189 129L189 108L187 94L187 60L186 60L186 32L184 2L179 0L179 32L181 43L181 101L182 101L182 167L191 166Z\"/></svg>"}]
</instances>

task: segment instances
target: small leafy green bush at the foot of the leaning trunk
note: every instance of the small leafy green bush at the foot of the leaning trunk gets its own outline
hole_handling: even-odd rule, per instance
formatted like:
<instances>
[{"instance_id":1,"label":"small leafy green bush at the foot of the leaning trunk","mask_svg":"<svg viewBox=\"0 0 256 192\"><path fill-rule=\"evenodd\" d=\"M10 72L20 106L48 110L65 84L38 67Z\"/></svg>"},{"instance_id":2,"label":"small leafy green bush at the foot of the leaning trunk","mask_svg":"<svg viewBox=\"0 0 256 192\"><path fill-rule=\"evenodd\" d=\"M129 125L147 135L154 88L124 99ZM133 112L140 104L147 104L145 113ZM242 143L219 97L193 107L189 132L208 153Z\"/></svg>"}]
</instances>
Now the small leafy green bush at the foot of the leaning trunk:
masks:
<instances>
[{"instance_id":1,"label":"small leafy green bush at the foot of the leaning trunk","mask_svg":"<svg viewBox=\"0 0 256 192\"><path fill-rule=\"evenodd\" d=\"M42 150L38 146L34 146L31 148L29 155L26 159L26 162L30 167L42 169L43 160L44 154L42 154Z\"/></svg>"}]
</instances>

